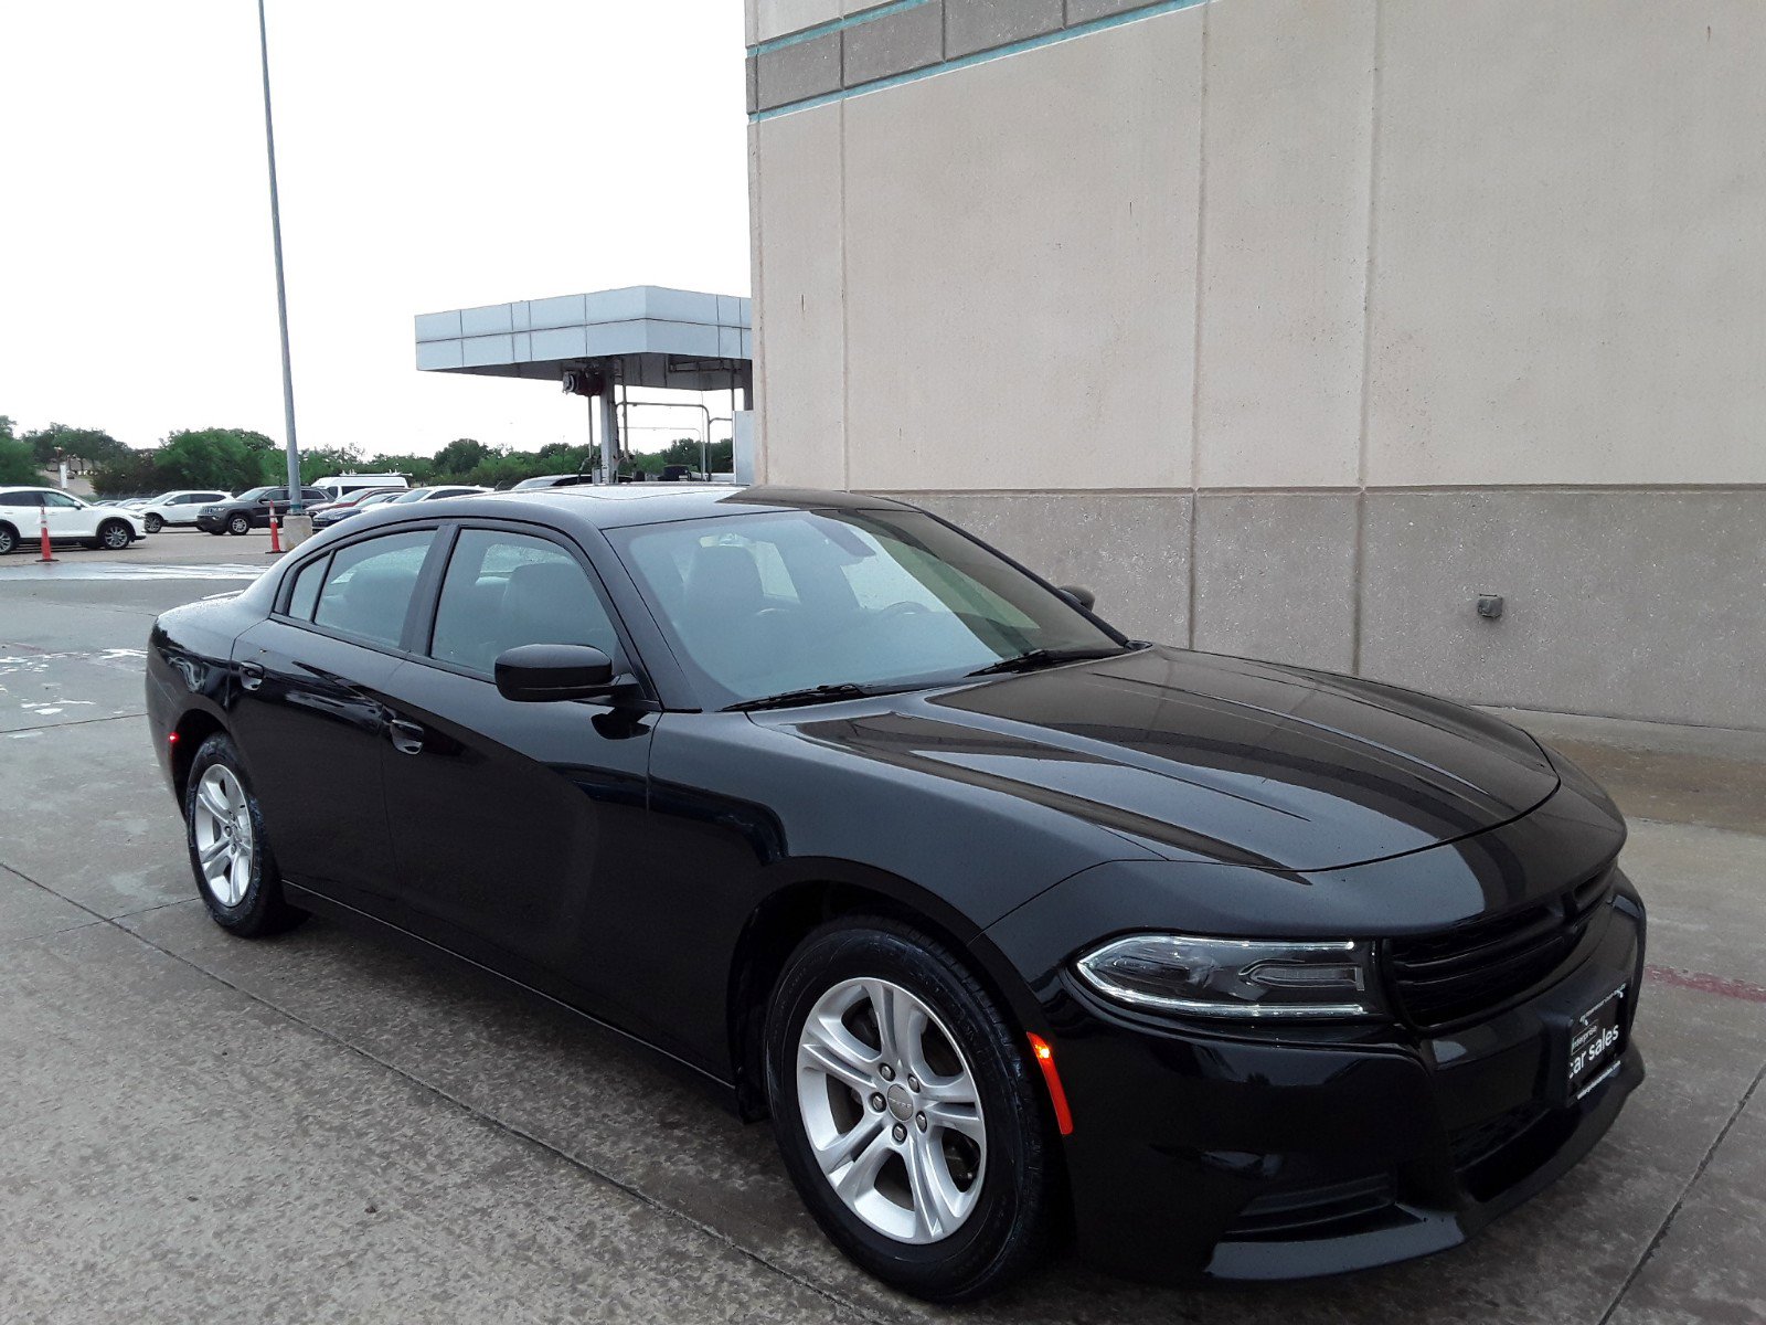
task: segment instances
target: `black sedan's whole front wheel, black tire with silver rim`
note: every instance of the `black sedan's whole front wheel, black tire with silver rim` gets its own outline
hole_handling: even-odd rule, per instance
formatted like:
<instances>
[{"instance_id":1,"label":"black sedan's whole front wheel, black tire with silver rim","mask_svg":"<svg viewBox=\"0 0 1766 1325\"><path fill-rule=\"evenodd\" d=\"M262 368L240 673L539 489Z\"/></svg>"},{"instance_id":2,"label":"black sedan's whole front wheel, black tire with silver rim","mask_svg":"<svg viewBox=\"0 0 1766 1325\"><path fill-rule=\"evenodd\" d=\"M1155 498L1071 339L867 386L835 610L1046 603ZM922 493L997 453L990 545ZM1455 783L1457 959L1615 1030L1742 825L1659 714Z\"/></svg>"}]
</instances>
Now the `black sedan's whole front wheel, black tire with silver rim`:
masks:
<instances>
[{"instance_id":1,"label":"black sedan's whole front wheel, black tire with silver rim","mask_svg":"<svg viewBox=\"0 0 1766 1325\"><path fill-rule=\"evenodd\" d=\"M811 1014L830 1034L805 1037ZM902 1035L885 1039L885 1021ZM885 1049L901 1041L906 1051ZM765 1048L786 1171L860 1267L915 1297L966 1302L1037 1263L1056 1164L1040 1086L1024 1041L938 940L876 917L823 926L779 977ZM823 1071L830 1060L839 1074ZM818 1143L839 1155L826 1173ZM934 1189L943 1200L922 1196Z\"/></svg>"}]
</instances>

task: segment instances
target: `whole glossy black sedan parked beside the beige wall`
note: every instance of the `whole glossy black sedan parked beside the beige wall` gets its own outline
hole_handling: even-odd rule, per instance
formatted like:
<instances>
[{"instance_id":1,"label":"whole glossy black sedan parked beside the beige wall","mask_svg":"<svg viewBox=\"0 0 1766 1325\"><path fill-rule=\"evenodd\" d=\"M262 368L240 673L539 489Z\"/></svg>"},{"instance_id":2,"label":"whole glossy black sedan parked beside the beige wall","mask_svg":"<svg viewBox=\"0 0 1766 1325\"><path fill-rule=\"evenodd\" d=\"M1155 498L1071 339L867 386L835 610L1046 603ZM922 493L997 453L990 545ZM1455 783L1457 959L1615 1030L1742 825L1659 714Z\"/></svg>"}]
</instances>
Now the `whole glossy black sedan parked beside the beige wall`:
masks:
<instances>
[{"instance_id":1,"label":"whole glossy black sedan parked beside the beige wall","mask_svg":"<svg viewBox=\"0 0 1766 1325\"><path fill-rule=\"evenodd\" d=\"M147 693L217 924L389 926L653 1048L929 1298L1065 1228L1143 1277L1439 1251L1642 1079L1574 765L1127 640L899 502L380 507L161 617Z\"/></svg>"}]
</instances>

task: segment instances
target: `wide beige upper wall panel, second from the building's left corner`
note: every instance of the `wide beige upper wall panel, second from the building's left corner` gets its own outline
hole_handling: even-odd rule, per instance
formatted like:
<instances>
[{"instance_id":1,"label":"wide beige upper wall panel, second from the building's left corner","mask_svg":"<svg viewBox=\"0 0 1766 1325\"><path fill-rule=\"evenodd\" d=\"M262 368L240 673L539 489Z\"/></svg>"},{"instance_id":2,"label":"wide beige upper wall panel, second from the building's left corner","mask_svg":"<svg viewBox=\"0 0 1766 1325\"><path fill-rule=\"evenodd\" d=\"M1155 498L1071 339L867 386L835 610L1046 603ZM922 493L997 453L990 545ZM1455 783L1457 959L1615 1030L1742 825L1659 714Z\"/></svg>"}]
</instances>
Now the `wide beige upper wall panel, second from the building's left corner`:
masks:
<instances>
[{"instance_id":1,"label":"wide beige upper wall panel, second from the building's left corner","mask_svg":"<svg viewBox=\"0 0 1766 1325\"><path fill-rule=\"evenodd\" d=\"M1192 9L846 104L855 488L1189 484L1199 78Z\"/></svg>"}]
</instances>

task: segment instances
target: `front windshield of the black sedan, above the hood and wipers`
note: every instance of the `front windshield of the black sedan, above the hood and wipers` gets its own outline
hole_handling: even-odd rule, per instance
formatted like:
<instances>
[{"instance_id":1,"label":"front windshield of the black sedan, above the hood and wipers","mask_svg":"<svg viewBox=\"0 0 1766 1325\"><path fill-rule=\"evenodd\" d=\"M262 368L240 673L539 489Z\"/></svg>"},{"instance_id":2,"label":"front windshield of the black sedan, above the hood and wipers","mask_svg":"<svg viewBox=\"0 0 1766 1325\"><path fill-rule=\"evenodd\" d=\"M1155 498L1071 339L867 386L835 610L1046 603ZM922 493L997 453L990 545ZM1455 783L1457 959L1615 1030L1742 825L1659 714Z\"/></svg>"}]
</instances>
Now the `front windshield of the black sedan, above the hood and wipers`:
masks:
<instances>
[{"instance_id":1,"label":"front windshield of the black sedan, above the hood and wipers","mask_svg":"<svg viewBox=\"0 0 1766 1325\"><path fill-rule=\"evenodd\" d=\"M731 514L609 530L715 703L816 685L908 689L1033 650L1121 640L915 511Z\"/></svg>"}]
</instances>

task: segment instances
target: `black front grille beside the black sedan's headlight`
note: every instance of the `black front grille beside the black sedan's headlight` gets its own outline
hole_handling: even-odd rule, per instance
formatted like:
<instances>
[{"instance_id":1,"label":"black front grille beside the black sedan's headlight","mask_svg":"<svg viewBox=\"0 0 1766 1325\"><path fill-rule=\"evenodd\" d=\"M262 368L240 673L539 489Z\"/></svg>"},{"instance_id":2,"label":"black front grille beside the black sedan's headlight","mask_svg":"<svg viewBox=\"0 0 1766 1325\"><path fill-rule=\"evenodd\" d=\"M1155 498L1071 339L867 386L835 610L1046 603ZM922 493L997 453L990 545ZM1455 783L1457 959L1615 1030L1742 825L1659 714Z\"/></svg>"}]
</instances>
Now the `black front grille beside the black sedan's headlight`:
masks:
<instances>
[{"instance_id":1,"label":"black front grille beside the black sedan's headlight","mask_svg":"<svg viewBox=\"0 0 1766 1325\"><path fill-rule=\"evenodd\" d=\"M1386 973L1404 1016L1446 1026L1526 993L1582 942L1612 889L1602 871L1531 906L1386 942Z\"/></svg>"}]
</instances>

